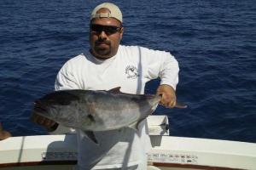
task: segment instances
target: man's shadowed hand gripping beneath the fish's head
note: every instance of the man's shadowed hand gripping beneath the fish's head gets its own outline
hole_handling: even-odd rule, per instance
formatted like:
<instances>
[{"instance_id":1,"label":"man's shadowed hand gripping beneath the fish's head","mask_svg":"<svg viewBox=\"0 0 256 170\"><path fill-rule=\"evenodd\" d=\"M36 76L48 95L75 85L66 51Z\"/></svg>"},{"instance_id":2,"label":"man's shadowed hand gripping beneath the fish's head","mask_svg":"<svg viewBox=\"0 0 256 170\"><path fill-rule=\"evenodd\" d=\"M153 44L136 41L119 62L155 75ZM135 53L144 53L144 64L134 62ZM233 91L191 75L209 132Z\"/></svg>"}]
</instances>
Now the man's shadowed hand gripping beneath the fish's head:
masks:
<instances>
[{"instance_id":1,"label":"man's shadowed hand gripping beneath the fish's head","mask_svg":"<svg viewBox=\"0 0 256 170\"><path fill-rule=\"evenodd\" d=\"M31 117L32 122L36 122L39 125L44 126L48 132L52 132L55 131L55 129L58 127L58 123L54 122L52 120L49 120L48 118L44 117L44 116L39 116L36 113L32 114Z\"/></svg>"}]
</instances>

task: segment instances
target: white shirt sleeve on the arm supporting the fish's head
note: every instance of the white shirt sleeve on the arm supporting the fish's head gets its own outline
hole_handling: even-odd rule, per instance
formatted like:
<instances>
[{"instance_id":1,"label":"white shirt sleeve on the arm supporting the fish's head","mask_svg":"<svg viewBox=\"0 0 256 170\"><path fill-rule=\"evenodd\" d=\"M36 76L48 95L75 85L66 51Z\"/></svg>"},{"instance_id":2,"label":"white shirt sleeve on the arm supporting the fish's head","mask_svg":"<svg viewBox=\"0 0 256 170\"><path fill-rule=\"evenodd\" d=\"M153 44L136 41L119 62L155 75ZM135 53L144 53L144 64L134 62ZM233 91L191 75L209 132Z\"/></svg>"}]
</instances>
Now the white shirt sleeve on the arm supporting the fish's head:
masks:
<instances>
[{"instance_id":1,"label":"white shirt sleeve on the arm supporting the fish's head","mask_svg":"<svg viewBox=\"0 0 256 170\"><path fill-rule=\"evenodd\" d=\"M62 66L61 70L57 74L55 79L55 91L67 90L67 89L79 89L77 77L74 77L75 68L68 60L65 65Z\"/></svg>"}]
</instances>

